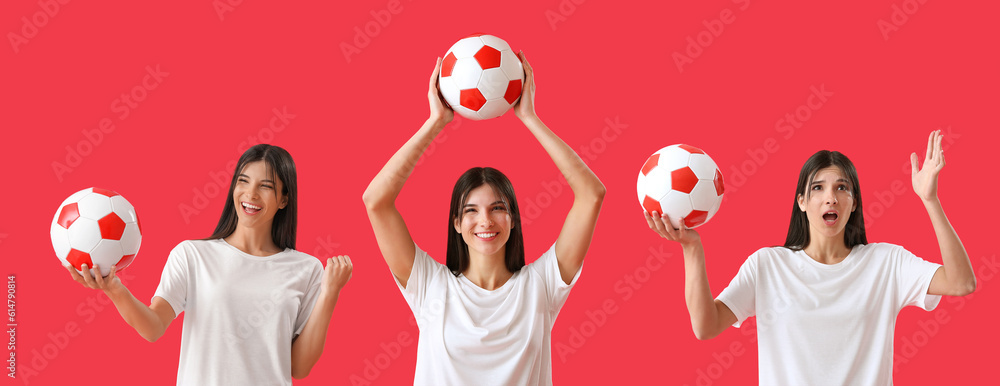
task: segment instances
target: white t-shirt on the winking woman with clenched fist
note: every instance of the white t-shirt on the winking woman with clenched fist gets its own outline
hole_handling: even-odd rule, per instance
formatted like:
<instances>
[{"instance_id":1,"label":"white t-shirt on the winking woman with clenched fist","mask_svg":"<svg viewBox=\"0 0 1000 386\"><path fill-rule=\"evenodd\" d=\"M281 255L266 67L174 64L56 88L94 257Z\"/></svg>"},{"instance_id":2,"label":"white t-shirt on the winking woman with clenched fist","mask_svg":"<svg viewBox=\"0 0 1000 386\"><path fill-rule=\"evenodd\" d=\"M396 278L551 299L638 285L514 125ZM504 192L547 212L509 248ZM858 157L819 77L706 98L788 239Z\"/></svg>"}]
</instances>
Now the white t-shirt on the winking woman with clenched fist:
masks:
<instances>
[{"instance_id":1,"label":"white t-shirt on the winking woman with clenched fist","mask_svg":"<svg viewBox=\"0 0 1000 386\"><path fill-rule=\"evenodd\" d=\"M323 264L294 249L253 256L223 239L181 242L154 297L184 312L178 385L291 385L292 339Z\"/></svg>"}]
</instances>

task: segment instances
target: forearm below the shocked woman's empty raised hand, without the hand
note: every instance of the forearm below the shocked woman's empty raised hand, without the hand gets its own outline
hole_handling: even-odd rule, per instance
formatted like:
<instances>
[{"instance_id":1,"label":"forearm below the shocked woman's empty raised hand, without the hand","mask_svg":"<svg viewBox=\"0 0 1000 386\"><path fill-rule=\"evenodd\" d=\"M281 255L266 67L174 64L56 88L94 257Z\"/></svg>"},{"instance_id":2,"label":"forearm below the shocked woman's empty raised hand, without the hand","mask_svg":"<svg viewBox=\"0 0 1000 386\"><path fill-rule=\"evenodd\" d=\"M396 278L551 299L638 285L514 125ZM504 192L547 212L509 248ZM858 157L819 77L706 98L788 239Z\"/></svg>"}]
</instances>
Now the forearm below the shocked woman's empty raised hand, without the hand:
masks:
<instances>
[{"instance_id":1,"label":"forearm below the shocked woman's empty raised hand, without the hand","mask_svg":"<svg viewBox=\"0 0 1000 386\"><path fill-rule=\"evenodd\" d=\"M969 261L969 253L966 252L962 240L958 238L958 233L955 232L955 228L951 226L951 222L944 214L941 201L934 198L924 200L923 203L931 218L938 246L941 248L941 260L944 264L949 287L953 289L955 294L972 293L976 289L976 275L972 270L972 262Z\"/></svg>"}]
</instances>

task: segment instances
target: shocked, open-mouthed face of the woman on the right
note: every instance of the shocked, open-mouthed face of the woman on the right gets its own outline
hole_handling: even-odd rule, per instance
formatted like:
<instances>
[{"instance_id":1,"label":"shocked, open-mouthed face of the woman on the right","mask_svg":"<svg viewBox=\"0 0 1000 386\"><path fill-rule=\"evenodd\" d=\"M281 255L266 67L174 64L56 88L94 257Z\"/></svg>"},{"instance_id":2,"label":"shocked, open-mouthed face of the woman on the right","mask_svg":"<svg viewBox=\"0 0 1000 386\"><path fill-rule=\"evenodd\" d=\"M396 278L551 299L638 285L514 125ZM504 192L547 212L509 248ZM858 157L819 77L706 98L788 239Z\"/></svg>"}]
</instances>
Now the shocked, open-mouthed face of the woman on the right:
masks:
<instances>
[{"instance_id":1,"label":"shocked, open-mouthed face of the woman on the right","mask_svg":"<svg viewBox=\"0 0 1000 386\"><path fill-rule=\"evenodd\" d=\"M798 204L809 219L810 234L826 237L842 237L858 206L851 181L836 166L820 169L806 186L806 194L798 196Z\"/></svg>"}]
</instances>

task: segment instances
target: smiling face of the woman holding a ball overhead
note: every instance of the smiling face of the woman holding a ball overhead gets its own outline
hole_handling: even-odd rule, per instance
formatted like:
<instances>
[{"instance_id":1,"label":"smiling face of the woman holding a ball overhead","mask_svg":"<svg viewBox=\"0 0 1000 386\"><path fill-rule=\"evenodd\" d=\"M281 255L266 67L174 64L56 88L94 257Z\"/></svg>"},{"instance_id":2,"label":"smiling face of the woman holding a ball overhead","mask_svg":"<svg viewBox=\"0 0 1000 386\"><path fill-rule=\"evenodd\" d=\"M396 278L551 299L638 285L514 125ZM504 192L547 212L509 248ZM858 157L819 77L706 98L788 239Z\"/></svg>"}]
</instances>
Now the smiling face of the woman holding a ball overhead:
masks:
<instances>
[{"instance_id":1,"label":"smiling face of the woman holding a ball overhead","mask_svg":"<svg viewBox=\"0 0 1000 386\"><path fill-rule=\"evenodd\" d=\"M459 208L455 231L469 245L469 252L482 255L503 254L513 228L507 204L489 184L472 189L465 205Z\"/></svg>"}]
</instances>

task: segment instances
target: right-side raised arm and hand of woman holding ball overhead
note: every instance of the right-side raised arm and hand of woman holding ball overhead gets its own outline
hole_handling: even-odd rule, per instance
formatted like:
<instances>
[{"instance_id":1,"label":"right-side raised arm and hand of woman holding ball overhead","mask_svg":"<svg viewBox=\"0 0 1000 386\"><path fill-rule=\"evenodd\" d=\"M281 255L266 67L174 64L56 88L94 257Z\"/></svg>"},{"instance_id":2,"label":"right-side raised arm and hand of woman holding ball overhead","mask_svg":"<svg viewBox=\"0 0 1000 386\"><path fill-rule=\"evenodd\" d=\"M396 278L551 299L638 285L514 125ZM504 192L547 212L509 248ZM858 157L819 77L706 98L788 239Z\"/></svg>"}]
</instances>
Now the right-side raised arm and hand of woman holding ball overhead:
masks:
<instances>
[{"instance_id":1,"label":"right-side raised arm and hand of woman holding ball overhead","mask_svg":"<svg viewBox=\"0 0 1000 386\"><path fill-rule=\"evenodd\" d=\"M521 53L521 64L524 66L524 89L521 91L521 100L514 106L514 115L528 127L573 190L573 206L566 215L566 221L556 240L559 273L563 282L569 284L583 266L583 258L594 237L597 216L601 213L606 190L580 156L538 119L535 114L534 71L524 58L524 53Z\"/></svg>"}]
</instances>

